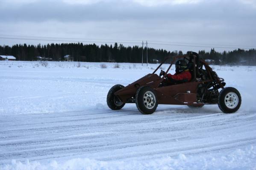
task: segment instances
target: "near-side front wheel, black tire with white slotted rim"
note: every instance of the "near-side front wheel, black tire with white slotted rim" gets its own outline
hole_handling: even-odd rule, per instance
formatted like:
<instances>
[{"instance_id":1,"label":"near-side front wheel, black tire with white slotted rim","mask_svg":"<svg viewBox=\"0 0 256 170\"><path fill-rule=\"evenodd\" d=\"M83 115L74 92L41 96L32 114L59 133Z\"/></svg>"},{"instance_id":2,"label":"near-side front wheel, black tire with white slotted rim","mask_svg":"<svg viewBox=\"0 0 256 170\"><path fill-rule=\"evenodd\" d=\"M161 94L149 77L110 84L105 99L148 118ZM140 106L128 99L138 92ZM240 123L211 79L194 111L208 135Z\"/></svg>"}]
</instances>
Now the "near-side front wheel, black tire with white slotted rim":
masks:
<instances>
[{"instance_id":1,"label":"near-side front wheel, black tire with white slotted rim","mask_svg":"<svg viewBox=\"0 0 256 170\"><path fill-rule=\"evenodd\" d=\"M145 98L147 98L147 100ZM147 86L140 87L135 95L135 103L142 114L154 113L158 105L156 92Z\"/></svg>"}]
</instances>

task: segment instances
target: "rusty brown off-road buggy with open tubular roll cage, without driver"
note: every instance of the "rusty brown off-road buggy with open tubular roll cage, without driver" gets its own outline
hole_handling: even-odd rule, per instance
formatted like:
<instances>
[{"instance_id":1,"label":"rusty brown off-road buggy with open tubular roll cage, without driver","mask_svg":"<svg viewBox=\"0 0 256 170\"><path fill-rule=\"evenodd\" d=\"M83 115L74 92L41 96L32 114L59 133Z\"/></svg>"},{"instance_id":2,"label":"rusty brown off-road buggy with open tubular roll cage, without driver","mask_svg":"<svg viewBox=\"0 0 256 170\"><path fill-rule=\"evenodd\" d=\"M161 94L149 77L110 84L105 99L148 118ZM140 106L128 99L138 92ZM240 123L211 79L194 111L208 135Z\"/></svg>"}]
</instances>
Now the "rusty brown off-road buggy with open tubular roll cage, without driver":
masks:
<instances>
[{"instance_id":1,"label":"rusty brown off-road buggy with open tubular roll cage, without driver","mask_svg":"<svg viewBox=\"0 0 256 170\"><path fill-rule=\"evenodd\" d=\"M171 59L171 64L164 75L156 71ZM192 75L190 82L176 82L166 85L168 71L177 59L184 59ZM161 70L162 71L162 70ZM241 95L232 87L224 88L224 79L219 78L215 71L197 53L166 57L152 74L138 79L124 87L114 85L107 95L107 104L112 110L119 110L125 103L135 103L143 114L153 113L158 104L188 105L190 108L201 108L203 105L218 105L224 113L234 113L240 108ZM219 89L222 90L219 92Z\"/></svg>"}]
</instances>

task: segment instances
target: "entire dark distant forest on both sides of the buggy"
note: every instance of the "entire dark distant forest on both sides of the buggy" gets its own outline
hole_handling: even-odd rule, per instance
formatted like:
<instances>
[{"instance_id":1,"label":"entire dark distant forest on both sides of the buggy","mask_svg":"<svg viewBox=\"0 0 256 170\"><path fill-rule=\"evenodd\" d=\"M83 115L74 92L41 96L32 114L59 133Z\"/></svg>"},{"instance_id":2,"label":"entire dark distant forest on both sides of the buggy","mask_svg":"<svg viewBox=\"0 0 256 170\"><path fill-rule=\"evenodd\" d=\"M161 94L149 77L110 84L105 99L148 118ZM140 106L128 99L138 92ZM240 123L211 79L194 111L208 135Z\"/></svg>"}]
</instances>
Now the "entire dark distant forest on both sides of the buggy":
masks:
<instances>
[{"instance_id":1,"label":"entire dark distant forest on both sides of the buggy","mask_svg":"<svg viewBox=\"0 0 256 170\"><path fill-rule=\"evenodd\" d=\"M195 51L203 59L212 59L215 64L221 65L256 65L256 49L237 49L233 51ZM156 60L162 61L167 56L182 55L182 51L166 51L163 49L148 48L148 62L153 63ZM47 45L0 45L0 55L12 55L16 60L34 61L38 56L52 58L53 61L63 61L65 55L71 55L74 61L81 62L141 62L142 47L125 47L122 44L96 45L82 43L61 43ZM143 51L144 62L146 62L146 48Z\"/></svg>"}]
</instances>

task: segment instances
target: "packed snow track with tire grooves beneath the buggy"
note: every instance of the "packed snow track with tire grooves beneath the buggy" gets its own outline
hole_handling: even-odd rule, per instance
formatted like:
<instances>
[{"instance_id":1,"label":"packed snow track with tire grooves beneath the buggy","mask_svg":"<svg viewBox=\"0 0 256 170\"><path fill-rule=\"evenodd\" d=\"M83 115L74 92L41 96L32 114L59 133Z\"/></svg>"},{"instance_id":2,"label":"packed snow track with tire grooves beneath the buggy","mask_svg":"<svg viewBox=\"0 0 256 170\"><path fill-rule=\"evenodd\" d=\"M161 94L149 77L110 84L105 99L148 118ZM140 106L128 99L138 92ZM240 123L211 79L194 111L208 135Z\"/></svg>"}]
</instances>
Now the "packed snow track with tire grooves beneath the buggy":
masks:
<instances>
[{"instance_id":1,"label":"packed snow track with tire grooves beneath the buggy","mask_svg":"<svg viewBox=\"0 0 256 170\"><path fill-rule=\"evenodd\" d=\"M256 136L251 135L256 127L253 113L156 113L145 116L133 110L107 112L16 115L20 124L7 121L1 127L0 134L6 137L0 141L3 150L0 157L4 158L0 163L10 159L41 160L71 155L92 156L99 160L156 157L256 143ZM29 124L31 116L33 122ZM8 119L13 120L13 117ZM241 135L245 129L250 135ZM233 140L229 137L225 142L221 138L229 134L229 130L236 130L237 134L231 136ZM218 142L212 142L212 138ZM184 144L195 141L199 143L197 146ZM174 144L176 147L171 147Z\"/></svg>"}]
</instances>

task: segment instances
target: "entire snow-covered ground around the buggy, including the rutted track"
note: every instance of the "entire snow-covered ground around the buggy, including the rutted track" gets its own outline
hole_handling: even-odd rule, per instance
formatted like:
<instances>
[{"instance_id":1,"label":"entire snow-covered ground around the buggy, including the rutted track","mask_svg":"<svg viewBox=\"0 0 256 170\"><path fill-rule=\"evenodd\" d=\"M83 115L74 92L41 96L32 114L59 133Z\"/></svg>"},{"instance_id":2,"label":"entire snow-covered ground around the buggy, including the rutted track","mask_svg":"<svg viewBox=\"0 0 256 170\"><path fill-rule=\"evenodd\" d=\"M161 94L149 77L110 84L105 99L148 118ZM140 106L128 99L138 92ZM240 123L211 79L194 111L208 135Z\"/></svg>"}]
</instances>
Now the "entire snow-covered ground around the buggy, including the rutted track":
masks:
<instances>
[{"instance_id":1,"label":"entire snow-covered ground around the buggy, including the rutted track","mask_svg":"<svg viewBox=\"0 0 256 170\"><path fill-rule=\"evenodd\" d=\"M236 113L159 105L143 115L135 104L110 110L106 95L156 64L43 64L0 61L0 170L256 170L256 67L212 66L240 91Z\"/></svg>"}]
</instances>

